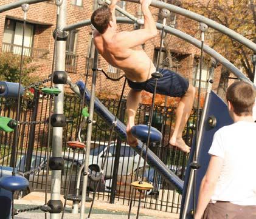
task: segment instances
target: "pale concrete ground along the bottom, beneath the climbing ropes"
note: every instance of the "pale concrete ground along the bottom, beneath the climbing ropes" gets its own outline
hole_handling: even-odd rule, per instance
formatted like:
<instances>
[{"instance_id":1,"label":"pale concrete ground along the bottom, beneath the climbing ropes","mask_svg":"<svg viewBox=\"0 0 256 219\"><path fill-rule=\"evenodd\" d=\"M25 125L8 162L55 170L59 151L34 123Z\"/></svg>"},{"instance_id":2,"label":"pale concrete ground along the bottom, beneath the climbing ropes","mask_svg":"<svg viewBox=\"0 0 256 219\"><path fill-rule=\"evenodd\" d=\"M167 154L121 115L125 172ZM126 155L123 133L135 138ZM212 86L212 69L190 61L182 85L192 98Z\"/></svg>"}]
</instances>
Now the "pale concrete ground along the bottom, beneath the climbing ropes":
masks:
<instances>
[{"instance_id":1,"label":"pale concrete ground along the bottom, beneath the climbing ropes","mask_svg":"<svg viewBox=\"0 0 256 219\"><path fill-rule=\"evenodd\" d=\"M49 200L50 195L47 195ZM61 197L63 198L63 197ZM64 201L63 201L64 203ZM24 209L27 207L33 207L36 205L44 204L44 193L43 192L32 192L21 200L15 200L16 209ZM89 211L91 203L86 203L86 212ZM64 214L64 219L78 219L79 214L71 214L72 202L67 201L67 211ZM94 209L91 214L91 219L126 219L128 215L129 206L122 204L120 201L116 201L114 204L109 204L108 200L95 200ZM137 207L133 207L131 219L136 218ZM87 214L85 214L87 217ZM16 219L44 219L44 213L41 211L36 212L25 212L19 213L15 216ZM49 216L47 217L49 218ZM140 208L140 217L142 219L178 219L178 214L172 214L163 211L156 211L151 209Z\"/></svg>"}]
</instances>

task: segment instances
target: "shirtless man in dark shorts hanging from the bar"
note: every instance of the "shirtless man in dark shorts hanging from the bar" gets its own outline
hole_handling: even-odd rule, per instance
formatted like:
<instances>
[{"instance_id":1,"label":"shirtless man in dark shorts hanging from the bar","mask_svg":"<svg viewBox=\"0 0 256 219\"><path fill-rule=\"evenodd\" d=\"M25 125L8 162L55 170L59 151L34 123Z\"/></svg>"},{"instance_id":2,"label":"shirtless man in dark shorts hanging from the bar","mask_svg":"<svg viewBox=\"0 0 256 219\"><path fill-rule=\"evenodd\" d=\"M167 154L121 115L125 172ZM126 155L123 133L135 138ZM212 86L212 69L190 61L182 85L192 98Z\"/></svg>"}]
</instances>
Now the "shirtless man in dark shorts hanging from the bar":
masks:
<instances>
[{"instance_id":1,"label":"shirtless man in dark shorts hanging from the bar","mask_svg":"<svg viewBox=\"0 0 256 219\"><path fill-rule=\"evenodd\" d=\"M156 72L156 67L141 45L154 38L157 35L157 29L149 10L151 0L140 0L144 15L144 29L117 32L115 16L117 1L119 0L112 0L109 7L103 5L95 10L91 16L91 22L96 29L93 33L95 47L111 66L125 72L128 85L131 87L126 103L128 114L126 133L128 144L136 146L137 139L131 134L131 127L134 126L142 90L151 93L154 91L154 79L151 78L151 73ZM157 93L181 97L176 109L175 130L169 143L184 152L189 152L190 147L182 140L182 131L192 110L195 88L175 72L166 69L161 69L159 72L164 76L157 83Z\"/></svg>"}]
</instances>

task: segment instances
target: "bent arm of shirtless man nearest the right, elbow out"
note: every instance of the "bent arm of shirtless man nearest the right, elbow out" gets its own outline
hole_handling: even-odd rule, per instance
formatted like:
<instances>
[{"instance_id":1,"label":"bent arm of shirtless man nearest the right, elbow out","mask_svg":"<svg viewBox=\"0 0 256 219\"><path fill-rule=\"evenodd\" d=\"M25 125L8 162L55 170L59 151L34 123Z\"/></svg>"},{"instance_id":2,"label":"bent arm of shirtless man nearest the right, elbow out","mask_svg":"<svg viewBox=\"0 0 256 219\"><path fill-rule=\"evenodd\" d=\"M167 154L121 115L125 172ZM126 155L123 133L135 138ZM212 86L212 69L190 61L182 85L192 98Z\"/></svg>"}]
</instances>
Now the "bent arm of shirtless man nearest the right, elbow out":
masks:
<instances>
[{"instance_id":1,"label":"bent arm of shirtless man nearest the right, elbow out","mask_svg":"<svg viewBox=\"0 0 256 219\"><path fill-rule=\"evenodd\" d=\"M142 45L148 39L157 35L156 23L148 8L151 0L140 0L142 13L144 15L144 29L134 30L132 32L120 32L116 35L116 43L121 44L125 48L133 48Z\"/></svg>"}]
</instances>

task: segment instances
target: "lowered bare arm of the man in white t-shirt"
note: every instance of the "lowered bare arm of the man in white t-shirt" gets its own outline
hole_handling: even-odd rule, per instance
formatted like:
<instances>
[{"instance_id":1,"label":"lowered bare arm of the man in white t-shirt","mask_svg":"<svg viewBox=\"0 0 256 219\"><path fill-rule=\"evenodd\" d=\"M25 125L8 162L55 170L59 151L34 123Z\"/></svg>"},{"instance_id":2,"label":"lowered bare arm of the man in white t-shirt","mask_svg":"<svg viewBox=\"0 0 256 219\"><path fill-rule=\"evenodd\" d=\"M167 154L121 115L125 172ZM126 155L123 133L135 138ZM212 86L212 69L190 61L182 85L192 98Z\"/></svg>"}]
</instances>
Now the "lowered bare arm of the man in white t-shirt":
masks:
<instances>
[{"instance_id":1,"label":"lowered bare arm of the man in white t-shirt","mask_svg":"<svg viewBox=\"0 0 256 219\"><path fill-rule=\"evenodd\" d=\"M206 210L206 206L210 201L210 198L213 195L215 190L216 182L220 176L221 166L223 165L223 158L216 157L214 155L211 156L209 166L206 171L206 175L202 179L199 196L198 196L198 204L196 207L196 213L194 219L201 219L204 211Z\"/></svg>"}]
</instances>

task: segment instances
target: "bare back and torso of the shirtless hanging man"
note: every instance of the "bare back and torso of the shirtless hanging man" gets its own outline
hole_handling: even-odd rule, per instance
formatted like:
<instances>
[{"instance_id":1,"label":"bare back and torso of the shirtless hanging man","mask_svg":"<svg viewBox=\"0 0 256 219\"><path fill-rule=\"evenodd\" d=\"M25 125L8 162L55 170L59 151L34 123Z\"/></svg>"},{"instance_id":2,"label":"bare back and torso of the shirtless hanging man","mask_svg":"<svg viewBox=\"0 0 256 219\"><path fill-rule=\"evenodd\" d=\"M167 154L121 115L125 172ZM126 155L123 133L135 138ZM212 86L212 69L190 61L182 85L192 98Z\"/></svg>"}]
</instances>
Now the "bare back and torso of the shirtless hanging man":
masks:
<instances>
[{"instance_id":1,"label":"bare back and torso of the shirtless hanging man","mask_svg":"<svg viewBox=\"0 0 256 219\"><path fill-rule=\"evenodd\" d=\"M117 35L119 33L112 38L104 39L97 30L94 30L95 47L111 66L122 69L126 78L136 82L146 81L156 70L153 62L141 45L133 48L122 47L122 42L116 41L119 37Z\"/></svg>"}]
</instances>

